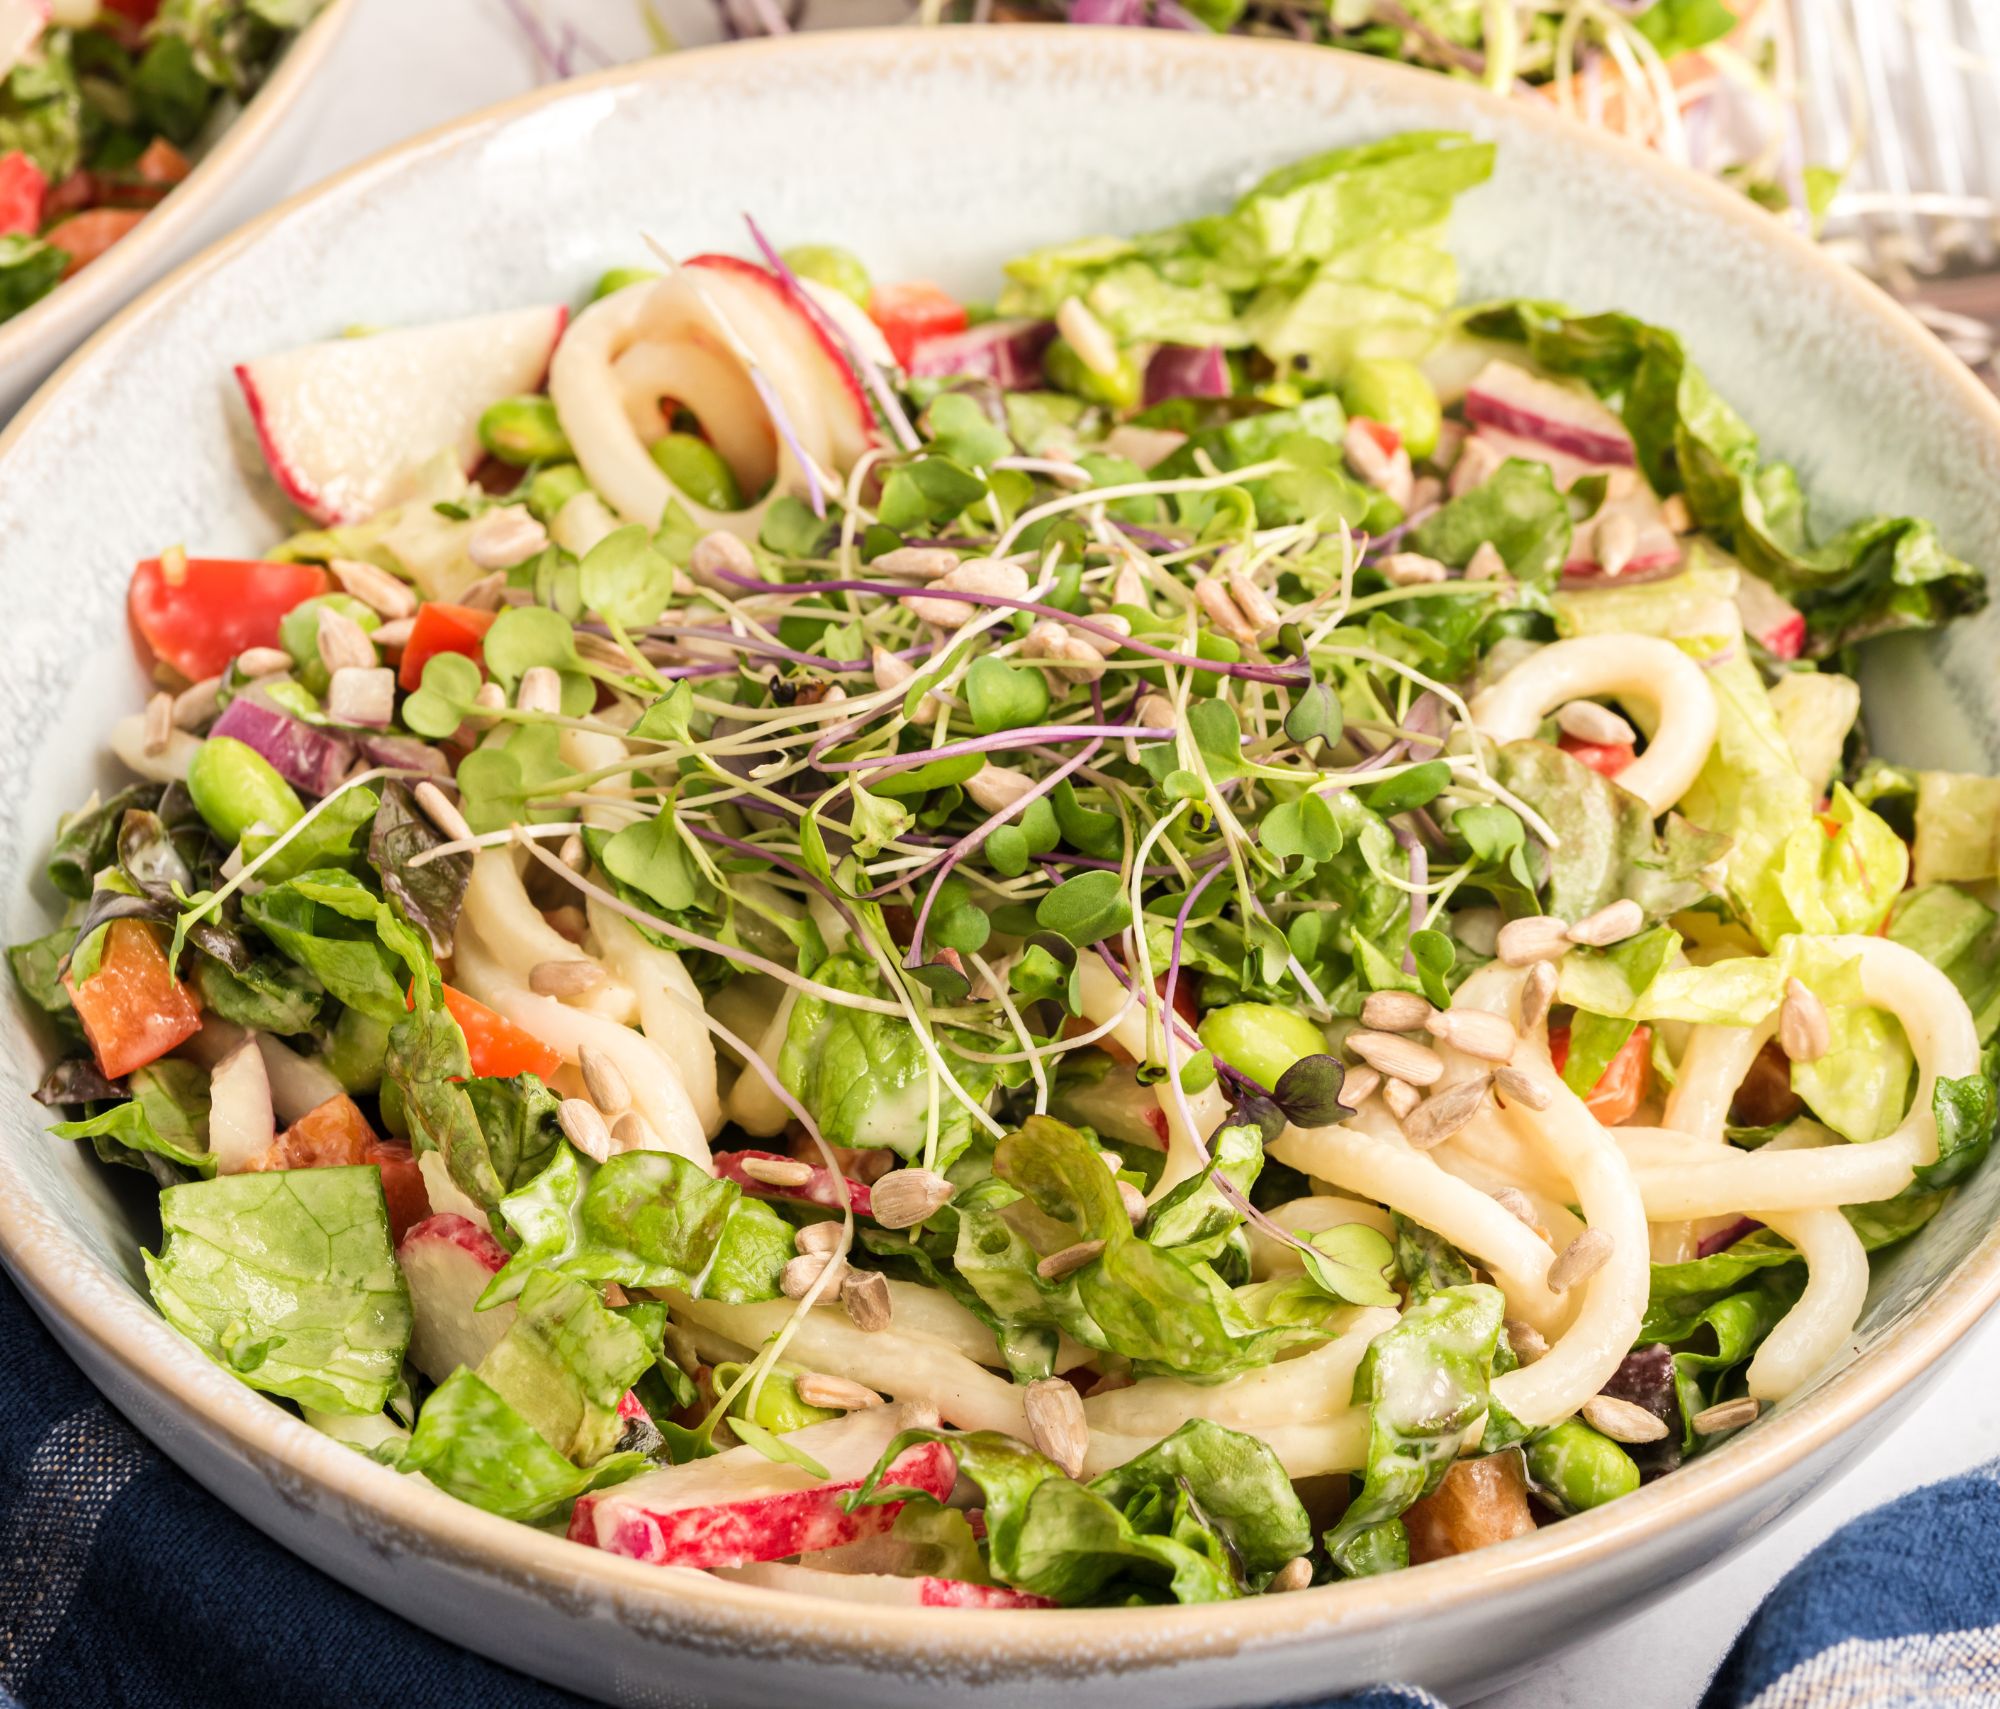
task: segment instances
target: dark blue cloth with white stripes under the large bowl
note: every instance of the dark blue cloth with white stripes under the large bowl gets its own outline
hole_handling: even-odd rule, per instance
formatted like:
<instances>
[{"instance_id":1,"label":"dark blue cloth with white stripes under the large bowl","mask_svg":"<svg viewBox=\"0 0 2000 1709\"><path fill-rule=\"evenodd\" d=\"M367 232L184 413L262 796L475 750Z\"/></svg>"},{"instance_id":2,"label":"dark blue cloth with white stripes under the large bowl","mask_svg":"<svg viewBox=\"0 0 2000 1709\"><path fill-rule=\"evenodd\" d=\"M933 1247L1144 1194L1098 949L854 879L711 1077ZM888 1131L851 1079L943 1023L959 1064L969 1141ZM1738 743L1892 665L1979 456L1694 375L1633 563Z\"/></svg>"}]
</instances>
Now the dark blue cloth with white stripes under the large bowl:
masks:
<instances>
[{"instance_id":1,"label":"dark blue cloth with white stripes under the large bowl","mask_svg":"<svg viewBox=\"0 0 2000 1709\"><path fill-rule=\"evenodd\" d=\"M98 1399L0 1273L0 1709L584 1709L286 1555ZM2000 1705L2000 1467L1856 1519L1702 1709ZM1378 1687L1340 1709L1444 1709Z\"/></svg>"}]
</instances>

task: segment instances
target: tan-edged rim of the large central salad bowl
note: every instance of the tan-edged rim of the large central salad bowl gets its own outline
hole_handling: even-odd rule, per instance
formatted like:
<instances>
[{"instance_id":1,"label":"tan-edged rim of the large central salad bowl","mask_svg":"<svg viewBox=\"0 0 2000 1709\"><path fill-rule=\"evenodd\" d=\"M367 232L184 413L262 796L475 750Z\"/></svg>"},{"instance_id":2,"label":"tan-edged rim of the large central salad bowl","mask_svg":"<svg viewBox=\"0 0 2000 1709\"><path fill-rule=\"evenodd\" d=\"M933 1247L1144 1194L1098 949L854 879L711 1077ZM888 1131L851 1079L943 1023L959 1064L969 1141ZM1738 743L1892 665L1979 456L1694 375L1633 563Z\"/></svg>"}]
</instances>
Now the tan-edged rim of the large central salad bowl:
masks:
<instances>
[{"instance_id":1,"label":"tan-edged rim of the large central salad bowl","mask_svg":"<svg viewBox=\"0 0 2000 1709\"><path fill-rule=\"evenodd\" d=\"M606 90L636 84L670 90L688 76L754 76L766 62L792 58L872 62L884 74L894 68L908 76L912 58L924 52L1002 60L1018 48L1020 30L1034 30L1044 50L1064 52L1064 44L1070 44L1086 58L1118 42L1120 52L1152 54L1170 72L1192 72L1204 60L1234 60L1244 68L1268 62L1288 68L1300 80L1330 70L1330 50L1300 42L1078 26L940 30L914 36L908 26L890 26L718 44L550 84L384 148L286 198L178 266L98 328L0 430L0 472L52 398L100 350L126 336L176 292L230 266L240 250L322 198L390 178L432 152L472 142L482 132L498 132L540 108L590 100ZM1140 40L1144 46L1138 46ZM1436 98L1434 74L1360 54L1342 56L1338 76L1416 108ZM1706 204L1714 220L1740 226L1790 268L1808 270L1818 286L1844 296L1876 320L1884 340L1908 366L1928 368L1928 378L1946 394L1958 394L1958 402L2000 440L2000 398L1886 292L1748 198L1622 138L1576 126L1552 108L1534 108L1468 84L1456 84L1452 98L1484 110L1502 140L1512 126L1540 130L1572 148L1608 152L1622 162L1622 170L1660 178L1662 188L1672 188L1682 204ZM1336 1633L1382 1633L1416 1613L1464 1611L1532 1595L1566 1575L1604 1567L1690 1521L1718 1521L1722 1509L1780 1487L1786 1473L1922 1379L2000 1299L2000 1227L1994 1227L1910 1307L1894 1335L1878 1337L1834 1377L1760 1421L1754 1431L1608 1507L1476 1555L1284 1597L1192 1607L1056 1609L1038 1611L1032 1619L1002 1619L990 1611L828 1603L708 1573L662 1573L640 1561L580 1549L404 1479L294 1419L176 1335L122 1275L100 1265L38 1203L6 1147L0 1147L0 1259L36 1311L52 1325L60 1323L66 1341L86 1343L136 1391L150 1389L150 1399L164 1399L184 1419L196 1421L210 1439L220 1437L232 1459L272 1481L288 1503L300 1505L302 1487L316 1489L344 1505L342 1523L348 1529L372 1539L394 1539L398 1551L438 1559L504 1589L526 1591L572 1617L580 1611L608 1611L642 1637L668 1647L694 1641L704 1649L740 1649L770 1659L792 1655L864 1673L934 1673L940 1665L956 1663L976 1665L982 1677L990 1677L996 1663L1022 1673L1060 1675L1150 1671ZM1858 1447L1858 1439L1854 1445Z\"/></svg>"}]
</instances>

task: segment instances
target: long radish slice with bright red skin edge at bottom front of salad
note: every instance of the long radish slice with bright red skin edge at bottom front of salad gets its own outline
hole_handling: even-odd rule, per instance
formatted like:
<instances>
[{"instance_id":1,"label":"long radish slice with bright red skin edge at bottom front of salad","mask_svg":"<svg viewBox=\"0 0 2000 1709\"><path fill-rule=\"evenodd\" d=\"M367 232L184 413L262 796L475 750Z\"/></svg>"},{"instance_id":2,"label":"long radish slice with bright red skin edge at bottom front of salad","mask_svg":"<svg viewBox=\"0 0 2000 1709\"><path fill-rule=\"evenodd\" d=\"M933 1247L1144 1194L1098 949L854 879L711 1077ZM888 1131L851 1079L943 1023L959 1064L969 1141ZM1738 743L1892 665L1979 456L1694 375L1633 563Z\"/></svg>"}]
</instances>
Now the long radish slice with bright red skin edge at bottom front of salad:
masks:
<instances>
[{"instance_id":1,"label":"long radish slice with bright red skin edge at bottom front of salad","mask_svg":"<svg viewBox=\"0 0 2000 1709\"><path fill-rule=\"evenodd\" d=\"M890 1441L920 1421L908 1405L868 1407L792 1431L786 1441L812 1455L824 1479L750 1447L644 1473L578 1501L570 1539L660 1567L742 1567L888 1531L902 1503L846 1513L842 1499L860 1489ZM918 1443L898 1455L884 1481L942 1501L956 1475L950 1447Z\"/></svg>"}]
</instances>

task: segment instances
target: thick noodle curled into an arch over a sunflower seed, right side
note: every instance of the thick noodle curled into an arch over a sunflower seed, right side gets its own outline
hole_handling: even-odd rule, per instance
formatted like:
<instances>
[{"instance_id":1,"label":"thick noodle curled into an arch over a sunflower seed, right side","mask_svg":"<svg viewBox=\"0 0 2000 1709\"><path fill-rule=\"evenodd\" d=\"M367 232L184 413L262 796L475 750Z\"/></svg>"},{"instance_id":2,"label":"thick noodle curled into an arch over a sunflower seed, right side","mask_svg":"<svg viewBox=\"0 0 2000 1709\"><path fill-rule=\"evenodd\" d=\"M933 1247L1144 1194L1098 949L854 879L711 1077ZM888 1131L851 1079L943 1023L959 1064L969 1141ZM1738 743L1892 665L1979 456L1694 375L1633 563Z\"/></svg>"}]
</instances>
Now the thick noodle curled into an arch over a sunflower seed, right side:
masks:
<instances>
[{"instance_id":1,"label":"thick noodle curled into an arch over a sunflower seed, right side","mask_svg":"<svg viewBox=\"0 0 2000 1709\"><path fill-rule=\"evenodd\" d=\"M1672 640L1650 634L1582 634L1532 652L1472 696L1472 722L1496 742L1518 742L1566 700L1610 694L1636 700L1658 720L1652 740L1618 782L1654 814L1688 792L1716 744L1716 694L1708 676Z\"/></svg>"}]
</instances>

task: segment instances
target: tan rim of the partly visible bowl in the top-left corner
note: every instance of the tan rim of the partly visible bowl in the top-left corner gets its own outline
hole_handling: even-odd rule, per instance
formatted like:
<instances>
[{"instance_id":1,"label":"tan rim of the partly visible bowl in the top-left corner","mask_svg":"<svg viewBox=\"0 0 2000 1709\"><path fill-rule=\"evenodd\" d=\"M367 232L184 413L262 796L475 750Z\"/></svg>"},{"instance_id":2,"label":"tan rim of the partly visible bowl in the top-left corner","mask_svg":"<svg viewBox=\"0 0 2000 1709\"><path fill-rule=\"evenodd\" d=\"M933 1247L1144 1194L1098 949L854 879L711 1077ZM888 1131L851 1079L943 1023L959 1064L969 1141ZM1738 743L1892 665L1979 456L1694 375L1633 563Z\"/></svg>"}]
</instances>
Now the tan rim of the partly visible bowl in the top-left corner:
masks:
<instances>
[{"instance_id":1,"label":"tan rim of the partly visible bowl in the top-left corner","mask_svg":"<svg viewBox=\"0 0 2000 1709\"><path fill-rule=\"evenodd\" d=\"M162 254L172 252L186 228L228 190L236 170L256 158L272 132L292 116L300 88L324 70L358 4L360 0L326 0L326 6L278 54L270 76L244 102L244 110L130 236L40 302L0 322L0 382L16 364L32 368L38 346L68 346L84 330L108 324L106 316L132 290L134 276L144 276Z\"/></svg>"}]
</instances>

